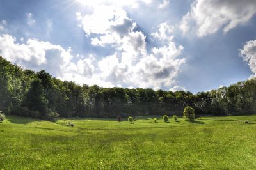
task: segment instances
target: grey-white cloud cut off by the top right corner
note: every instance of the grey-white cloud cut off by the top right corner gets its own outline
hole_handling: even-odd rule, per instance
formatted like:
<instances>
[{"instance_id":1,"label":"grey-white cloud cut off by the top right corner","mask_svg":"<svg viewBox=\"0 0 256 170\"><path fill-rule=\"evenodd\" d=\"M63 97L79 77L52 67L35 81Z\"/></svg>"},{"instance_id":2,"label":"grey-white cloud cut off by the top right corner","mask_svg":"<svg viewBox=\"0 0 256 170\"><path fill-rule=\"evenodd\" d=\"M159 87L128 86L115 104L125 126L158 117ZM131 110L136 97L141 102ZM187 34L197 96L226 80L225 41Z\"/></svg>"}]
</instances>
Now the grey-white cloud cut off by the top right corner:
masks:
<instances>
[{"instance_id":1,"label":"grey-white cloud cut off by the top right corner","mask_svg":"<svg viewBox=\"0 0 256 170\"><path fill-rule=\"evenodd\" d=\"M256 13L255 0L196 0L180 22L183 33L196 30L198 36L211 35L223 29L226 33L248 22Z\"/></svg>"}]
</instances>

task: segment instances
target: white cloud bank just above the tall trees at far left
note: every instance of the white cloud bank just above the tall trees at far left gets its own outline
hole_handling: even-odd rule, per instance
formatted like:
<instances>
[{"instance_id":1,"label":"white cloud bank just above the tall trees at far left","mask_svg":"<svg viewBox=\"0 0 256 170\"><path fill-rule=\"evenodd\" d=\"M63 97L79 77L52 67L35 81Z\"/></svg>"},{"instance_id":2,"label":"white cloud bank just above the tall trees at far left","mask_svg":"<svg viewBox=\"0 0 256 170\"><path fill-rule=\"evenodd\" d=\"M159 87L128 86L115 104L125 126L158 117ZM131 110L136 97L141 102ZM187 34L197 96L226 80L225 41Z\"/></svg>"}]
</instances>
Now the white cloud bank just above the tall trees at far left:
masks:
<instances>
[{"instance_id":1,"label":"white cloud bank just above the tall trees at far left","mask_svg":"<svg viewBox=\"0 0 256 170\"><path fill-rule=\"evenodd\" d=\"M17 43L10 35L0 36L0 55L12 63L25 68L44 68L55 76L63 75L63 70L69 65L71 49L65 50L60 45L29 39L26 43Z\"/></svg>"}]
</instances>

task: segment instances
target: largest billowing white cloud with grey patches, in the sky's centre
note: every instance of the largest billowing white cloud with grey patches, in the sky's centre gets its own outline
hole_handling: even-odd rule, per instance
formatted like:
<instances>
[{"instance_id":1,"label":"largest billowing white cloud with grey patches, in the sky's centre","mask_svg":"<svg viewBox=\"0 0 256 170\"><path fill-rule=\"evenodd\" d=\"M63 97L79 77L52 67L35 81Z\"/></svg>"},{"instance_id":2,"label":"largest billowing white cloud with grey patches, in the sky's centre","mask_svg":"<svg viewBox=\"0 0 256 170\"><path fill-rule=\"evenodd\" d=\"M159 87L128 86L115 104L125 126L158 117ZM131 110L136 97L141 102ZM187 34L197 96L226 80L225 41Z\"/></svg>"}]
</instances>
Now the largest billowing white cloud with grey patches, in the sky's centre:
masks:
<instances>
[{"instance_id":1,"label":"largest billowing white cloud with grey patches, in the sky's centre","mask_svg":"<svg viewBox=\"0 0 256 170\"><path fill-rule=\"evenodd\" d=\"M92 36L91 44L100 47L111 45L115 54L97 62L97 75L113 86L136 86L159 89L175 82L183 47L172 42L173 26L159 24L159 31L152 35L163 46L147 50L146 36L136 31L136 22L123 8L98 6L88 15L77 13L79 26L86 36Z\"/></svg>"}]
</instances>

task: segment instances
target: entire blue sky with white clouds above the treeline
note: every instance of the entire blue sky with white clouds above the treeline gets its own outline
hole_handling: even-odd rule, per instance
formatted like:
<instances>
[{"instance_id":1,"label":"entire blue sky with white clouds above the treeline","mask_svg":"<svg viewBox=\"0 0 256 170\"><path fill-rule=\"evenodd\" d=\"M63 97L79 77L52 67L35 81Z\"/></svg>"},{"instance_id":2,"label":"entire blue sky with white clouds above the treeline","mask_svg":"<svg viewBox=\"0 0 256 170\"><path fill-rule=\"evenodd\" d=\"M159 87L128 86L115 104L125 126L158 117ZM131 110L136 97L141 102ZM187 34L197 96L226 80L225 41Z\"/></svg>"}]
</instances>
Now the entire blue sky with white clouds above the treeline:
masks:
<instances>
[{"instance_id":1,"label":"entire blue sky with white clouds above the treeline","mask_svg":"<svg viewBox=\"0 0 256 170\"><path fill-rule=\"evenodd\" d=\"M0 56L103 87L189 90L256 76L255 0L1 0Z\"/></svg>"}]
</instances>

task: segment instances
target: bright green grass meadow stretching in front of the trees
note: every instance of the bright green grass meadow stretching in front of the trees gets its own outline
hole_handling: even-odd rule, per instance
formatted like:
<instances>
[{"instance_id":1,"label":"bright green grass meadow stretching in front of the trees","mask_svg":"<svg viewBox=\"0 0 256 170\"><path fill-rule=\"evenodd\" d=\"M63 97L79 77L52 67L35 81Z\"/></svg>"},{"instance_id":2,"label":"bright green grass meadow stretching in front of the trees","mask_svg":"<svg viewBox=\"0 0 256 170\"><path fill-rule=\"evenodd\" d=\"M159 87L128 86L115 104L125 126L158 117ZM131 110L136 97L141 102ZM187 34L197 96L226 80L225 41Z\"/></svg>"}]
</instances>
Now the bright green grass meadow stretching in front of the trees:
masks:
<instances>
[{"instance_id":1,"label":"bright green grass meadow stretching in front of the trees","mask_svg":"<svg viewBox=\"0 0 256 170\"><path fill-rule=\"evenodd\" d=\"M0 169L256 169L256 116L195 123L7 116L0 123Z\"/></svg>"}]
</instances>

